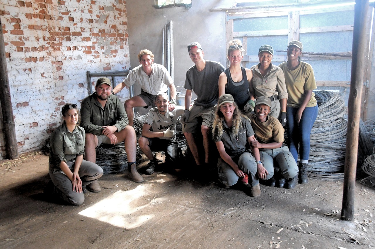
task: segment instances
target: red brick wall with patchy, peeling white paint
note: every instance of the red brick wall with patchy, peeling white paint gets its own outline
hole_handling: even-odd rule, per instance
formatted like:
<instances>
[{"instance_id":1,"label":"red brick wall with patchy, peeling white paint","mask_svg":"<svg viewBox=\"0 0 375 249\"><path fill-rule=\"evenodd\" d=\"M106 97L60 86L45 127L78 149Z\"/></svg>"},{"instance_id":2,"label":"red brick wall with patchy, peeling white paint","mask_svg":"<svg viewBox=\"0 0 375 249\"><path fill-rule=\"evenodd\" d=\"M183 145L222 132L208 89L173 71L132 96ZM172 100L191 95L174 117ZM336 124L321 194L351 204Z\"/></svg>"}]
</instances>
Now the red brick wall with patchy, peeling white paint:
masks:
<instances>
[{"instance_id":1,"label":"red brick wall with patchy, peeling white paint","mask_svg":"<svg viewBox=\"0 0 375 249\"><path fill-rule=\"evenodd\" d=\"M61 107L88 95L87 70L130 67L123 0L1 0L0 16L20 153L42 147Z\"/></svg>"}]
</instances>

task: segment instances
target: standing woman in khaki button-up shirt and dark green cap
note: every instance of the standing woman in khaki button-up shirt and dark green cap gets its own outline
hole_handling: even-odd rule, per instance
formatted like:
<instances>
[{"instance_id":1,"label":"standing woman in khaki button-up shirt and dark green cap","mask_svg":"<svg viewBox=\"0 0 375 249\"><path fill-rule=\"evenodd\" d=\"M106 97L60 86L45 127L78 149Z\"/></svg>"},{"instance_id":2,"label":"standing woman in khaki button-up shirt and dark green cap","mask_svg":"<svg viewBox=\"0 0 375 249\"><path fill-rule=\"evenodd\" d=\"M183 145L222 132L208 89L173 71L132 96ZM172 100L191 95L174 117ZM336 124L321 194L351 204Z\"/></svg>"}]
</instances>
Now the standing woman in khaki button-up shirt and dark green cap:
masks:
<instances>
[{"instance_id":1,"label":"standing woman in khaki button-up shirt and dark green cap","mask_svg":"<svg viewBox=\"0 0 375 249\"><path fill-rule=\"evenodd\" d=\"M270 116L275 117L282 126L285 126L287 123L287 87L285 86L283 71L280 67L271 63L272 57L272 46L263 45L259 48L259 63L251 67L253 79L249 87L249 93L253 100L260 96L270 98L272 102Z\"/></svg>"}]
</instances>

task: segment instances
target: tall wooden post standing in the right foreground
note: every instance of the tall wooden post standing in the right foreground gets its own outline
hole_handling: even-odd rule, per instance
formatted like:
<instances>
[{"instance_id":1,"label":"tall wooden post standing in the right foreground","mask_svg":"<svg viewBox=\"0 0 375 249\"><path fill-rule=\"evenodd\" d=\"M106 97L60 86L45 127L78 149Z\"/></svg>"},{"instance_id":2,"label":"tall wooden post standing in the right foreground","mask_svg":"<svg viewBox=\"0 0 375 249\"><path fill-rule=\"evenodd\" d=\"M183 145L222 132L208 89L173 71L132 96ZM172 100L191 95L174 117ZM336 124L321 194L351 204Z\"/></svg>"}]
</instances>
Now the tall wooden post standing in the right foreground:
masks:
<instances>
[{"instance_id":1,"label":"tall wooden post standing in the right foreground","mask_svg":"<svg viewBox=\"0 0 375 249\"><path fill-rule=\"evenodd\" d=\"M358 154L359 121L363 86L363 67L368 55L366 44L366 14L368 0L356 0L354 7L353 57L348 100L348 131L345 151L344 191L342 196L341 219L353 221L354 190Z\"/></svg>"}]
</instances>

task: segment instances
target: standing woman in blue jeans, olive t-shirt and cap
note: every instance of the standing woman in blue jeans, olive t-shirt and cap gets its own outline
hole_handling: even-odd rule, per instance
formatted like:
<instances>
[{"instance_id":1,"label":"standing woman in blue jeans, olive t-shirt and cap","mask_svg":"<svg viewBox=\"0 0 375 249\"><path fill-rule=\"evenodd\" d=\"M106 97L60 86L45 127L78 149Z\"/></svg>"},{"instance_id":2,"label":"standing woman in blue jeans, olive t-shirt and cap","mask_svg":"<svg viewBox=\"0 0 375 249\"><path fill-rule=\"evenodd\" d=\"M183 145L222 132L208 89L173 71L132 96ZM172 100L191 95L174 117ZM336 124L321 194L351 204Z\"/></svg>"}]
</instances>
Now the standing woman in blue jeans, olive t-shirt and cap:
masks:
<instances>
[{"instance_id":1,"label":"standing woman in blue jeans, olive t-shirt and cap","mask_svg":"<svg viewBox=\"0 0 375 249\"><path fill-rule=\"evenodd\" d=\"M300 183L307 184L306 167L310 154L310 133L318 116L318 105L312 90L317 89L314 71L310 64L300 61L302 43L294 40L288 44L288 61L280 64L285 74L288 90L287 119L289 150L294 160L298 160L300 153L299 179ZM298 150L299 146L299 150Z\"/></svg>"}]
</instances>

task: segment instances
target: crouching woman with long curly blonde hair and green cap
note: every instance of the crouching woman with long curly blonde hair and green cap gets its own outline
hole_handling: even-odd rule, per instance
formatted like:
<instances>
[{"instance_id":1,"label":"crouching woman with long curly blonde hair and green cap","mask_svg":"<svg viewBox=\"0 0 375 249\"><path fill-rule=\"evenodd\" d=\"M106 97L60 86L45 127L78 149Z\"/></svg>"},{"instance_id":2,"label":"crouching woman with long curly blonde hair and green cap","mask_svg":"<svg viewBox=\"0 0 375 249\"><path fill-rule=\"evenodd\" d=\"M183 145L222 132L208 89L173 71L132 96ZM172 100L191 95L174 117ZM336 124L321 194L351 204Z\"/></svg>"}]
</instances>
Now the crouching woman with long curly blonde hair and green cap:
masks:
<instances>
[{"instance_id":1,"label":"crouching woman with long curly blonde hair and green cap","mask_svg":"<svg viewBox=\"0 0 375 249\"><path fill-rule=\"evenodd\" d=\"M260 196L259 178L267 179L268 171L262 165L258 148L250 146L255 140L250 121L241 114L232 95L223 94L218 103L212 134L220 154L219 181L229 188L240 179L247 194ZM249 147L252 153L246 150Z\"/></svg>"}]
</instances>

